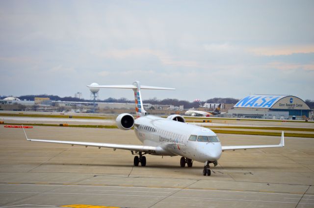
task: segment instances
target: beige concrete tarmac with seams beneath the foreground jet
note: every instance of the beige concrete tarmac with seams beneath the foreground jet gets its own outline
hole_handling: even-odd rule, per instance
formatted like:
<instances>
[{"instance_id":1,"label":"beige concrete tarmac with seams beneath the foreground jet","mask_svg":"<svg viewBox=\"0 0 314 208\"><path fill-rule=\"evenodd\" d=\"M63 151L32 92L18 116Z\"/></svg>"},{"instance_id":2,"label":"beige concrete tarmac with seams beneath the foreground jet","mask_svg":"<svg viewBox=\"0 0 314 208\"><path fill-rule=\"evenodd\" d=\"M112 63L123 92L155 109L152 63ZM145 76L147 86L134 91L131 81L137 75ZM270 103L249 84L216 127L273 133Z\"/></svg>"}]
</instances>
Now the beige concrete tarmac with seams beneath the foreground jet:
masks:
<instances>
[{"instance_id":1,"label":"beige concrete tarmac with seams beneath the foreground jet","mask_svg":"<svg viewBox=\"0 0 314 208\"><path fill-rule=\"evenodd\" d=\"M140 144L132 130L40 127L32 139ZM222 145L277 144L278 137L218 134ZM211 176L203 163L130 151L26 141L0 125L0 207L313 208L314 139L285 138L284 148L225 151ZM98 208L100 208L98 207Z\"/></svg>"}]
</instances>

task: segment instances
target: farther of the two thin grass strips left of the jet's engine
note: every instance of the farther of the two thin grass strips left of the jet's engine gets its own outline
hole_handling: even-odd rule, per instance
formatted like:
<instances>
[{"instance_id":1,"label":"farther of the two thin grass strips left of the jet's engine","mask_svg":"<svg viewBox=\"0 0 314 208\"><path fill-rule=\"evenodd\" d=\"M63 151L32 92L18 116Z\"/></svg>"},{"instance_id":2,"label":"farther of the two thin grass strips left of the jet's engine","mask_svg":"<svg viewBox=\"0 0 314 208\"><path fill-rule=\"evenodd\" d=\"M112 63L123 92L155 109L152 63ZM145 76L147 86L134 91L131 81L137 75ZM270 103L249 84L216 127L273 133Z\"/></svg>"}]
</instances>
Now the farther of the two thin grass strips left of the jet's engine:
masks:
<instances>
[{"instance_id":1,"label":"farther of the two thin grass strips left of the jet's engine","mask_svg":"<svg viewBox=\"0 0 314 208\"><path fill-rule=\"evenodd\" d=\"M17 116L17 117L49 117L49 118L86 118L86 119L113 119L114 116L75 116L75 115L48 115L48 114L1 114L0 116Z\"/></svg>"}]
</instances>

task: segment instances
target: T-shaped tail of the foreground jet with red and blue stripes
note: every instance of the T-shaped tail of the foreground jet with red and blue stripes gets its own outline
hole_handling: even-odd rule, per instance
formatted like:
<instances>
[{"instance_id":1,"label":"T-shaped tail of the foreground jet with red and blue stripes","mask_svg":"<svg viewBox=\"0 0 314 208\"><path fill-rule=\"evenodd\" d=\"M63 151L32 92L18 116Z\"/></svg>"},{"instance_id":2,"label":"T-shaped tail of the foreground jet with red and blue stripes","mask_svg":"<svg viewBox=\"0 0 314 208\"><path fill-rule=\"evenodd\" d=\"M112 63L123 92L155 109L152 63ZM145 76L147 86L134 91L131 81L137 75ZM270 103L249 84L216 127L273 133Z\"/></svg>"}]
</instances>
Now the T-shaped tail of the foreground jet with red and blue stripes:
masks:
<instances>
[{"instance_id":1,"label":"T-shaped tail of the foreground jet with red and blue stripes","mask_svg":"<svg viewBox=\"0 0 314 208\"><path fill-rule=\"evenodd\" d=\"M136 116L145 116L147 112L143 108L142 96L141 96L141 89L148 89L148 90L176 90L174 88L163 88L163 87L152 87L152 86L144 86L140 84L139 81L133 82L132 85L87 85L89 88L119 88L119 89L132 89L134 92L135 98L135 111Z\"/></svg>"}]
</instances>

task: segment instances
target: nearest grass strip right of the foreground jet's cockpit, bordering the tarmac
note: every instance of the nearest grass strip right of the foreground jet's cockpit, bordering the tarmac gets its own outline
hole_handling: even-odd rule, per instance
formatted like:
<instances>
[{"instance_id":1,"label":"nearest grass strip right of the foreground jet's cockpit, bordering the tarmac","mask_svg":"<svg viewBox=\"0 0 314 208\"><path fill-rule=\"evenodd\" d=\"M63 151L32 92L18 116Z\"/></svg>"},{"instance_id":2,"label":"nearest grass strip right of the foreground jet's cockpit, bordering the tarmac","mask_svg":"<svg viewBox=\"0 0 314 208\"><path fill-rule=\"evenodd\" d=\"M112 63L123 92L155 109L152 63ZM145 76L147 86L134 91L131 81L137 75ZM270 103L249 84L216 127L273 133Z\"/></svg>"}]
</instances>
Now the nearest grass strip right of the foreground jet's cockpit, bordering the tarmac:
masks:
<instances>
[{"instance_id":1,"label":"nearest grass strip right of the foreground jet's cockpit, bordering the tarmac","mask_svg":"<svg viewBox=\"0 0 314 208\"><path fill-rule=\"evenodd\" d=\"M262 135L262 136L276 136L280 137L280 132L249 132L249 131L231 131L231 130L212 130L218 134L241 134L241 135ZM298 134L298 133L285 133L285 137L304 137L314 138L313 134Z\"/></svg>"}]
</instances>

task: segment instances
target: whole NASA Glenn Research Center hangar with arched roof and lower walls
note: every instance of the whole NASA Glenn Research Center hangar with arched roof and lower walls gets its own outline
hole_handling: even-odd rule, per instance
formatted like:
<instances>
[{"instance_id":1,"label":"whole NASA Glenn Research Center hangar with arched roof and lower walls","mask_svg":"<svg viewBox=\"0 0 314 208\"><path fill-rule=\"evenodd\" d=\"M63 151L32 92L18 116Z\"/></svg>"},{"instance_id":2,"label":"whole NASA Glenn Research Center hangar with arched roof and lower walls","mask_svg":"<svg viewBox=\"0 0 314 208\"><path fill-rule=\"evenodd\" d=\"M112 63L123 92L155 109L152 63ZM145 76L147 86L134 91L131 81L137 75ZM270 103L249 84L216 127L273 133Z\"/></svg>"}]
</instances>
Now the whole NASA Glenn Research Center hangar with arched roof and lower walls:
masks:
<instances>
[{"instance_id":1,"label":"whole NASA Glenn Research Center hangar with arched roof and lower walls","mask_svg":"<svg viewBox=\"0 0 314 208\"><path fill-rule=\"evenodd\" d=\"M243 118L289 119L309 117L310 112L309 106L296 96L255 94L241 99L228 114Z\"/></svg>"}]
</instances>

